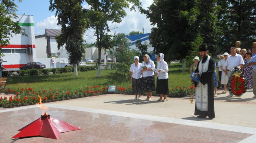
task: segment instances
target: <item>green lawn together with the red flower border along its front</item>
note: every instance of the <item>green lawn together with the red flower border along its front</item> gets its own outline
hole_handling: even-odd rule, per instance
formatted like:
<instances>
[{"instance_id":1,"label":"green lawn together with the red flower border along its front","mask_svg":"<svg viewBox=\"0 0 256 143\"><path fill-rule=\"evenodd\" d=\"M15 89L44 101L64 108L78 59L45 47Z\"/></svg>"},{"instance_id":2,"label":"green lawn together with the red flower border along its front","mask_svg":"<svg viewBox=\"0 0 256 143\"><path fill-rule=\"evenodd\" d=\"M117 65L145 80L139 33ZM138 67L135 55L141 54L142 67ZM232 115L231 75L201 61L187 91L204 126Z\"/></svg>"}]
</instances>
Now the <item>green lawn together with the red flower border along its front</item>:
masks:
<instances>
[{"instance_id":1,"label":"green lawn together with the red flower border along its front","mask_svg":"<svg viewBox=\"0 0 256 143\"><path fill-rule=\"evenodd\" d=\"M1 107L14 107L31 105L38 102L40 95L42 102L53 102L59 100L82 98L94 95L107 94L109 85L117 85L115 93L131 94L131 82L116 83L109 77L114 74L115 69L101 70L100 77L97 77L97 70L73 72L55 75L11 77L8 80L6 90L17 94L16 98L0 98ZM195 89L191 86L189 72L182 72L181 64L169 68L169 96L184 97L194 94ZM156 77L156 76L155 76ZM157 77L156 77L157 78ZM153 95L156 95L154 92Z\"/></svg>"}]
</instances>

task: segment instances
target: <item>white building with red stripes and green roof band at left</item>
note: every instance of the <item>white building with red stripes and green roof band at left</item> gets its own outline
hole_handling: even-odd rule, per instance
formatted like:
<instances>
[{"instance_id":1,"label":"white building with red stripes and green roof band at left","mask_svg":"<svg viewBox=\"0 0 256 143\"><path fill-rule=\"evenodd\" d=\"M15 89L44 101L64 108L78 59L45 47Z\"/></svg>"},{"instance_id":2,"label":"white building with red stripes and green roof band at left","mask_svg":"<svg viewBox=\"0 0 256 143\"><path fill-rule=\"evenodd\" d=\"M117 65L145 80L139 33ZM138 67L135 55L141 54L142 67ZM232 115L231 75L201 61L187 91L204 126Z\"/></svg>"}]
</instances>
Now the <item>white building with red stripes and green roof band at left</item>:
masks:
<instances>
[{"instance_id":1,"label":"white building with red stripes and green roof band at left","mask_svg":"<svg viewBox=\"0 0 256 143\"><path fill-rule=\"evenodd\" d=\"M5 54L1 57L7 62L3 62L3 67L7 70L16 70L28 62L36 60L36 42L33 15L17 15L19 25L27 36L22 34L12 34L10 44L2 47Z\"/></svg>"}]
</instances>

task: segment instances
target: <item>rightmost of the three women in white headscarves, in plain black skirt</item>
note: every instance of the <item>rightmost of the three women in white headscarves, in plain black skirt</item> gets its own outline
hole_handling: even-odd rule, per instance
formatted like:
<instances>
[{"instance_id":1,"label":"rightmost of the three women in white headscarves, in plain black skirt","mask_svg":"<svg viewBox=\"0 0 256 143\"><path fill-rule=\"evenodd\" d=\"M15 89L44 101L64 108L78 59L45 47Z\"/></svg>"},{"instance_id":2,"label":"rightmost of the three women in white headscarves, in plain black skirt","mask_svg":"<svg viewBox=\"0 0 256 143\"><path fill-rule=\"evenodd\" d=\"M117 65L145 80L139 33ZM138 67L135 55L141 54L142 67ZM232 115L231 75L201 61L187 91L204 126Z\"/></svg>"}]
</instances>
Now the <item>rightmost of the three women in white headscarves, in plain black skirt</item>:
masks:
<instances>
[{"instance_id":1,"label":"rightmost of the three women in white headscarves, in plain black skirt","mask_svg":"<svg viewBox=\"0 0 256 143\"><path fill-rule=\"evenodd\" d=\"M160 94L158 101L168 101L167 95L169 94L168 86L168 64L164 60L165 55L163 53L158 54L158 68L156 70L157 77L157 94ZM163 95L165 95L163 99Z\"/></svg>"}]
</instances>

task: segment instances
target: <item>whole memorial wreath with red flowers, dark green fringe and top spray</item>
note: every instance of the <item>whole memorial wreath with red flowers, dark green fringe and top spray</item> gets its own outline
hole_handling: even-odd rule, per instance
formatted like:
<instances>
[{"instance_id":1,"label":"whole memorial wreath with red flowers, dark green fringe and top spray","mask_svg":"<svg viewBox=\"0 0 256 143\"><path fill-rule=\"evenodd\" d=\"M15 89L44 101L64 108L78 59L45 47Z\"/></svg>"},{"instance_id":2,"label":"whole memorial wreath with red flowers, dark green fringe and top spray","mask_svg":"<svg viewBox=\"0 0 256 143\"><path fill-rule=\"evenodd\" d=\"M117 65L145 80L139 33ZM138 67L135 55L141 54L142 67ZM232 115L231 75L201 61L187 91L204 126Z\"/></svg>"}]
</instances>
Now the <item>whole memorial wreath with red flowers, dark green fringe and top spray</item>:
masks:
<instances>
[{"instance_id":1,"label":"whole memorial wreath with red flowers, dark green fringe and top spray","mask_svg":"<svg viewBox=\"0 0 256 143\"><path fill-rule=\"evenodd\" d=\"M247 79L236 66L233 69L233 75L230 76L227 82L227 89L236 96L241 96L248 89Z\"/></svg>"}]
</instances>

